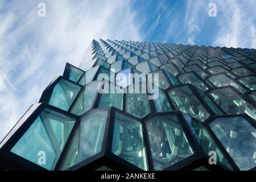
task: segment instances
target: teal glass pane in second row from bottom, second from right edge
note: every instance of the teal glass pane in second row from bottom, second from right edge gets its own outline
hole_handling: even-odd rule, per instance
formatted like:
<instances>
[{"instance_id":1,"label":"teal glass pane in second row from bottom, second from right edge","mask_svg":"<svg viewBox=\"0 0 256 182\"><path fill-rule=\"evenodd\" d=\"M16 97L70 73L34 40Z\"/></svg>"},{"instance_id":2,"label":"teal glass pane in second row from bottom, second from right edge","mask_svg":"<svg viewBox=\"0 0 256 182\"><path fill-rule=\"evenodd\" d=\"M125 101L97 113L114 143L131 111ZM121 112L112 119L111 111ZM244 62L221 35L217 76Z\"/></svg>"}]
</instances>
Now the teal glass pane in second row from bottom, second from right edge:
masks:
<instances>
[{"instance_id":1,"label":"teal glass pane in second row from bottom, second from right edge","mask_svg":"<svg viewBox=\"0 0 256 182\"><path fill-rule=\"evenodd\" d=\"M171 89L168 94L175 108L181 112L202 122L210 117L208 111L188 86Z\"/></svg>"}]
</instances>

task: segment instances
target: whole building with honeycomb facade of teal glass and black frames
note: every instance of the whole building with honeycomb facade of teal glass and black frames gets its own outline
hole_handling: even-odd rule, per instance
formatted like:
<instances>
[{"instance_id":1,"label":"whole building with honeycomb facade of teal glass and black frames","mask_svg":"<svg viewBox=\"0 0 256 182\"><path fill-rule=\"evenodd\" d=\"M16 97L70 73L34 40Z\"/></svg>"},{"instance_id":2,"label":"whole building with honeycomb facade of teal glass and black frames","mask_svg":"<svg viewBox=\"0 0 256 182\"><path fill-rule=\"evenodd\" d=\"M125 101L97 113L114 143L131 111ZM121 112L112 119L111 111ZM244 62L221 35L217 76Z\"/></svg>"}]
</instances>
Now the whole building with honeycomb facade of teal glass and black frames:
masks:
<instances>
[{"instance_id":1,"label":"whole building with honeycomb facade of teal glass and black frames","mask_svg":"<svg viewBox=\"0 0 256 182\"><path fill-rule=\"evenodd\" d=\"M2 140L0 169L255 170L255 70L255 49L93 40Z\"/></svg>"}]
</instances>

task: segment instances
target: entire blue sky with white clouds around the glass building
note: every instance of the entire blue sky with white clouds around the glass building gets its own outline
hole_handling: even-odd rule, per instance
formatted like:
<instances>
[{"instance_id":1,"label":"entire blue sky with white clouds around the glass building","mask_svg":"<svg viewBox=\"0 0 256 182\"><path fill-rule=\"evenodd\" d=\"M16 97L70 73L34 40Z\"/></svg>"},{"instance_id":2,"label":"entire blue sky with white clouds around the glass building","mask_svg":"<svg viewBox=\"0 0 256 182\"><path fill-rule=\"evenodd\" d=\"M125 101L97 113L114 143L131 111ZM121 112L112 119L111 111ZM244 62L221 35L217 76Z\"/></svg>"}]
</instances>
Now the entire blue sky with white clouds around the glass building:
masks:
<instances>
[{"instance_id":1,"label":"entire blue sky with white clouds around the glass building","mask_svg":"<svg viewBox=\"0 0 256 182\"><path fill-rule=\"evenodd\" d=\"M255 0L1 0L0 139L92 39L256 48L255 9Z\"/></svg>"}]
</instances>

